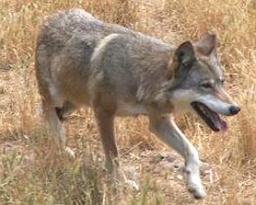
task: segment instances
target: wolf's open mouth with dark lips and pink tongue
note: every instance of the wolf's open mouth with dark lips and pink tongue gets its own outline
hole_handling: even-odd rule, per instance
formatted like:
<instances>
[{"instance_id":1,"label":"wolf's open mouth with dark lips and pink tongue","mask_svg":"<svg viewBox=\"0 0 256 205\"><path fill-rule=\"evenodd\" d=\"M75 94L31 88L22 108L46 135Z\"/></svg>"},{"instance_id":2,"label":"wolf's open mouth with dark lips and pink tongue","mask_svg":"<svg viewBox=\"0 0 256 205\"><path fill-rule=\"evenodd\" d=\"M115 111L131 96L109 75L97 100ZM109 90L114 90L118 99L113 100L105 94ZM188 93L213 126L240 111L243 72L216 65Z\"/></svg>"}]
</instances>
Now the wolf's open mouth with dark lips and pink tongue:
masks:
<instances>
[{"instance_id":1,"label":"wolf's open mouth with dark lips and pink tongue","mask_svg":"<svg viewBox=\"0 0 256 205\"><path fill-rule=\"evenodd\" d=\"M226 130L226 122L220 118L220 114L212 111L209 107L200 102L192 102L191 106L213 131Z\"/></svg>"}]
</instances>

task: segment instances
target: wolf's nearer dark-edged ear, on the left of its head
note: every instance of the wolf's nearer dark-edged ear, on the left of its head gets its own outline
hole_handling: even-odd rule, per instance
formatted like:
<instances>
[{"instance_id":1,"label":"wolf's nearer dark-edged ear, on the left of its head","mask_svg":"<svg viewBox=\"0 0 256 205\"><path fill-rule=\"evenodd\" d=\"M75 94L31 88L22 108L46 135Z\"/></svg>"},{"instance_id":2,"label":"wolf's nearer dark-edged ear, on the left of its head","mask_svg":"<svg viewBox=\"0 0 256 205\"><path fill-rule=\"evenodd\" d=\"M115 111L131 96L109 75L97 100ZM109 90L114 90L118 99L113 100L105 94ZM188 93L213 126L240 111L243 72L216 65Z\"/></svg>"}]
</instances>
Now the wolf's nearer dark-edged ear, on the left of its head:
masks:
<instances>
[{"instance_id":1,"label":"wolf's nearer dark-edged ear, on the left of its head","mask_svg":"<svg viewBox=\"0 0 256 205\"><path fill-rule=\"evenodd\" d=\"M174 60L183 67L187 67L194 61L194 48L191 42L183 42L175 50Z\"/></svg>"}]
</instances>

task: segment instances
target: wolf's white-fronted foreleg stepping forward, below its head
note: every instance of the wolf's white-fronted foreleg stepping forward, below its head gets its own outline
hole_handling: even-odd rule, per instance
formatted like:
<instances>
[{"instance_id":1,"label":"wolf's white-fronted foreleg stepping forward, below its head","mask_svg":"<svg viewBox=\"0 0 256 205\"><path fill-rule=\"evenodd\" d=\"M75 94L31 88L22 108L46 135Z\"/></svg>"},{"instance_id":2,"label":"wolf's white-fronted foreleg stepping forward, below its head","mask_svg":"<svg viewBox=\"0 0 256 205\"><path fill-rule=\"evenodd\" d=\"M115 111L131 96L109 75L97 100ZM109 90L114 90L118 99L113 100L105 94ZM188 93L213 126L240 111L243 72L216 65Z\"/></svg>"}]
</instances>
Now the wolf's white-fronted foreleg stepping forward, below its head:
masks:
<instances>
[{"instance_id":1,"label":"wolf's white-fronted foreleg stepping forward, below its head","mask_svg":"<svg viewBox=\"0 0 256 205\"><path fill-rule=\"evenodd\" d=\"M200 159L198 152L193 144L185 138L177 125L175 125L174 119L170 117L155 115L149 117L149 130L184 157L187 188L194 195L194 198L203 198L206 192L200 181Z\"/></svg>"}]
</instances>

